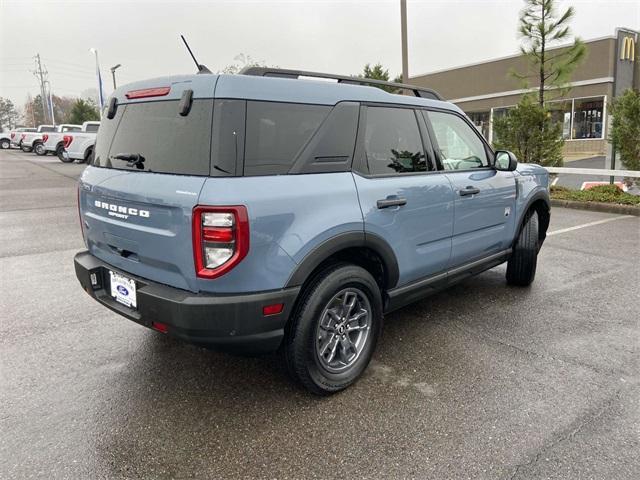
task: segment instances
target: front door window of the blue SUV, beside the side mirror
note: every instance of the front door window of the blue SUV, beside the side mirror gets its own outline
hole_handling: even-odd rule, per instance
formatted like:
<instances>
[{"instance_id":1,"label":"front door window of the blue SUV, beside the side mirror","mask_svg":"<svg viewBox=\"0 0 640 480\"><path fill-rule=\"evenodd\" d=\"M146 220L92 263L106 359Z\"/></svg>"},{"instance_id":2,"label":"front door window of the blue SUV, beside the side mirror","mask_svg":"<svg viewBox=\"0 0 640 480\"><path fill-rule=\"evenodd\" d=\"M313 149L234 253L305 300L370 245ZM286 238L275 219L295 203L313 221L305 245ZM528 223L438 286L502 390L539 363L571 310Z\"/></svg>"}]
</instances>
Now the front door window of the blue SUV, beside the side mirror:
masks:
<instances>
[{"instance_id":1,"label":"front door window of the blue SUV, beside the side mirror","mask_svg":"<svg viewBox=\"0 0 640 480\"><path fill-rule=\"evenodd\" d=\"M445 170L488 167L487 151L467 122L452 113L423 112L431 121L438 154Z\"/></svg>"}]
</instances>

